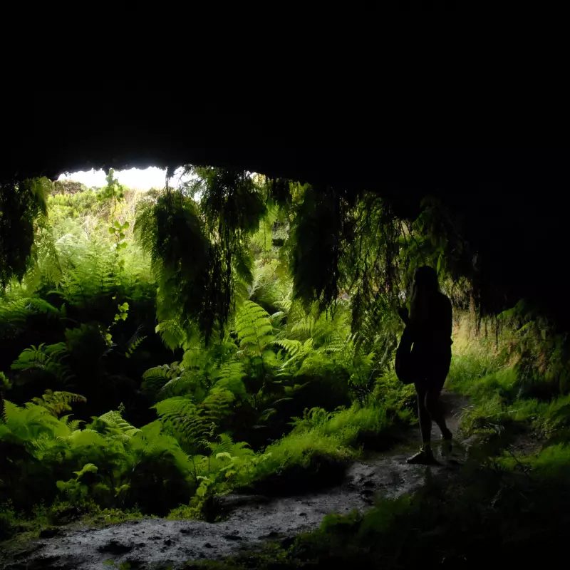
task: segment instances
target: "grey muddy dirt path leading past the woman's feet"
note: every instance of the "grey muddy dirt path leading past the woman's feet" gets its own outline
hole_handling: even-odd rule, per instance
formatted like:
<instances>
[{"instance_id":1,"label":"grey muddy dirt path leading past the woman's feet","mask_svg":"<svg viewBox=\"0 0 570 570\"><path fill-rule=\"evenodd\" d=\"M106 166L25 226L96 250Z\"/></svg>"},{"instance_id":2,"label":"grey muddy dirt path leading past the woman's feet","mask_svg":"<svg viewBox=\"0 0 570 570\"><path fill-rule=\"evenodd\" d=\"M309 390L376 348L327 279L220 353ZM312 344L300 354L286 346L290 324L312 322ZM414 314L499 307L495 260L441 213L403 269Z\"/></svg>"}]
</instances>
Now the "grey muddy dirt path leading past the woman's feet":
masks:
<instances>
[{"instance_id":1,"label":"grey muddy dirt path leading past the woman's feet","mask_svg":"<svg viewBox=\"0 0 570 570\"><path fill-rule=\"evenodd\" d=\"M445 392L442 401L450 429L457 432L458 416L467 400ZM56 537L34 541L4 569L113 567L105 561L114 561L116 566L128 563L131 569L166 569L189 560L222 558L262 541L289 539L316 529L325 514L365 510L378 492L395 497L420 487L427 470L436 474L453 468L449 462L429 468L407 465L405 459L418 443L417 430L413 430L400 447L351 465L340 487L316 494L279 499L229 495L226 502L232 514L224 522L141 519L100 529L62 529Z\"/></svg>"}]
</instances>

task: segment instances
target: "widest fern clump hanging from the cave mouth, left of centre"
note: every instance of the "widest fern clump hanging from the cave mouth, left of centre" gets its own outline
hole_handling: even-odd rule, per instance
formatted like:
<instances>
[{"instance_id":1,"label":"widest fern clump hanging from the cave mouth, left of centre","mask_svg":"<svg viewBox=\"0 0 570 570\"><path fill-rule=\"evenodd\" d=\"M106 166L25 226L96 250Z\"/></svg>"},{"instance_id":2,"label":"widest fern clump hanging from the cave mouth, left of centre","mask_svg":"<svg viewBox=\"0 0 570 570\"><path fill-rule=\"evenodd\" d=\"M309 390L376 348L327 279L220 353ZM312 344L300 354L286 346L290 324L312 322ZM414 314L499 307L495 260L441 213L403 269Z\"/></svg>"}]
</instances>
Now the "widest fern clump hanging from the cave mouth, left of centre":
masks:
<instances>
[{"instance_id":1,"label":"widest fern clump hanging from the cave mouth, left of centre","mask_svg":"<svg viewBox=\"0 0 570 570\"><path fill-rule=\"evenodd\" d=\"M247 237L265 207L247 172L190 170L191 187L167 187L140 203L135 235L159 285L159 321L186 330L196 323L208 343L214 332L223 337L239 284L252 281Z\"/></svg>"}]
</instances>

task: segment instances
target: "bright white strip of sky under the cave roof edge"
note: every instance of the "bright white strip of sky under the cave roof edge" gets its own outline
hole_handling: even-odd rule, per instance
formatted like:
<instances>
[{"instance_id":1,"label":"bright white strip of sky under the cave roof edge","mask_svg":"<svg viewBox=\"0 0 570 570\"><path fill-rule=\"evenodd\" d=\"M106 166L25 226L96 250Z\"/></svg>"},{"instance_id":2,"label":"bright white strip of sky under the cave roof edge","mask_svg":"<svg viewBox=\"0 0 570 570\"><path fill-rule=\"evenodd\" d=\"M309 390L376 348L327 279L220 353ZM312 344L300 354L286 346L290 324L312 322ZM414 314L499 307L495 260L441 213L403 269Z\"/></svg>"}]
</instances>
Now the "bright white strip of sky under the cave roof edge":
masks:
<instances>
[{"instance_id":1,"label":"bright white strip of sky under the cave roof edge","mask_svg":"<svg viewBox=\"0 0 570 570\"><path fill-rule=\"evenodd\" d=\"M175 170L175 174L170 178L169 184L176 187L181 182L190 180L189 175L183 175L184 168L180 167ZM62 174L58 180L75 180L81 182L86 187L103 187L107 184L105 181L106 173L104 170L88 170L88 172L70 172ZM151 166L141 170L140 168L130 168L129 170L115 170L115 178L120 184L133 190L150 190L150 188L163 188L166 185L166 170Z\"/></svg>"}]
</instances>

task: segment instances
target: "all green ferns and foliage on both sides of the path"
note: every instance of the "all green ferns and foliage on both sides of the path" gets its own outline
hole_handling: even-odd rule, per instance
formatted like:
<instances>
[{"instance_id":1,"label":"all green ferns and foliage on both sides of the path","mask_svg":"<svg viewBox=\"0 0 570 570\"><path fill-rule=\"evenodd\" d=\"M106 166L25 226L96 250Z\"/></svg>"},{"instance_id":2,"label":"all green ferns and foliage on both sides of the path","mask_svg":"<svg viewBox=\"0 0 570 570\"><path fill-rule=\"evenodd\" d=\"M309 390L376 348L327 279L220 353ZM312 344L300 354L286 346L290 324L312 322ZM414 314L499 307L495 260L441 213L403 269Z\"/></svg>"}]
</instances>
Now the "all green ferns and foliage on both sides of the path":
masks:
<instances>
[{"instance_id":1,"label":"all green ferns and foliage on both sides of the path","mask_svg":"<svg viewBox=\"0 0 570 570\"><path fill-rule=\"evenodd\" d=\"M457 271L465 244L440 204L427 200L410 222L366 192L187 172L190 182L146 193L112 170L102 189L50 194L48 182L26 182L35 202L14 186L29 223L19 237L0 215L11 256L1 274L0 534L38 509L56 520L69 509L214 519L217 494L323 484L363 447L389 447L415 414L413 387L393 373L396 309L425 263L462 316L448 384L472 398L462 426L489 444L486 468L567 472L566 338L524 301L499 319L477 314ZM513 465L497 448L521 432L538 434L544 452ZM323 544L341 532L370 563L371 537L392 541L394 521L440 524L418 506L431 500L328 519L294 560L328 559ZM445 507L448 520L459 508Z\"/></svg>"}]
</instances>

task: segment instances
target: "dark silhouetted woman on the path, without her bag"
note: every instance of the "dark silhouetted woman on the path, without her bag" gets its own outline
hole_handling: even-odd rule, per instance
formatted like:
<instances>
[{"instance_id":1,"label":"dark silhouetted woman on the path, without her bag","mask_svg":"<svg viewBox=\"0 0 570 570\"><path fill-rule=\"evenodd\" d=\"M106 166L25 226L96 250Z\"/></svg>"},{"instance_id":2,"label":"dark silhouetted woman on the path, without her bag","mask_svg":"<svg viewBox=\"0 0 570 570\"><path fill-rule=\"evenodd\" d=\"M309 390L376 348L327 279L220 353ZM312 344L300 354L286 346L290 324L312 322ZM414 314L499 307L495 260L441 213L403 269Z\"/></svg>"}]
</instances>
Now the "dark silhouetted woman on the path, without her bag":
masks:
<instances>
[{"instance_id":1,"label":"dark silhouetted woman on the path, without her bag","mask_svg":"<svg viewBox=\"0 0 570 570\"><path fill-rule=\"evenodd\" d=\"M412 361L417 375L415 391L422 434L422 447L408 463L434 465L437 461L431 448L432 421L440 427L447 449L452 437L439 400L450 371L452 309L451 301L440 292L435 269L423 266L415 271L410 315L407 309L399 312L412 332Z\"/></svg>"}]
</instances>

